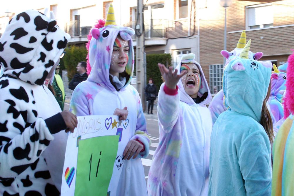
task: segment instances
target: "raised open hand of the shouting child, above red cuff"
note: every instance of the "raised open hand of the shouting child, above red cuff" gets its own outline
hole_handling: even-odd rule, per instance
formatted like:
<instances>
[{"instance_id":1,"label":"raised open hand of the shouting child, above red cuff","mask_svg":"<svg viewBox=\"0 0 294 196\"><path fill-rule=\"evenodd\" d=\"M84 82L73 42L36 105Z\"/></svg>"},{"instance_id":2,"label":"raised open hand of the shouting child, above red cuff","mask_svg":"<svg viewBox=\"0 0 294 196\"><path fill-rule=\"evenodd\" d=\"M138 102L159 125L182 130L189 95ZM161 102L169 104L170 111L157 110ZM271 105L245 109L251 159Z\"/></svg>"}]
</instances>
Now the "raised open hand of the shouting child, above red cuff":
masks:
<instances>
[{"instance_id":1,"label":"raised open hand of the shouting child, above red cuff","mask_svg":"<svg viewBox=\"0 0 294 196\"><path fill-rule=\"evenodd\" d=\"M179 75L178 75L178 70L175 69L173 72L173 68L169 67L168 69L166 68L165 65L158 63L158 68L161 73L161 76L164 79L165 85L170 88L170 89L176 89L178 81L181 79L182 76L184 76L187 71L183 70Z\"/></svg>"}]
</instances>

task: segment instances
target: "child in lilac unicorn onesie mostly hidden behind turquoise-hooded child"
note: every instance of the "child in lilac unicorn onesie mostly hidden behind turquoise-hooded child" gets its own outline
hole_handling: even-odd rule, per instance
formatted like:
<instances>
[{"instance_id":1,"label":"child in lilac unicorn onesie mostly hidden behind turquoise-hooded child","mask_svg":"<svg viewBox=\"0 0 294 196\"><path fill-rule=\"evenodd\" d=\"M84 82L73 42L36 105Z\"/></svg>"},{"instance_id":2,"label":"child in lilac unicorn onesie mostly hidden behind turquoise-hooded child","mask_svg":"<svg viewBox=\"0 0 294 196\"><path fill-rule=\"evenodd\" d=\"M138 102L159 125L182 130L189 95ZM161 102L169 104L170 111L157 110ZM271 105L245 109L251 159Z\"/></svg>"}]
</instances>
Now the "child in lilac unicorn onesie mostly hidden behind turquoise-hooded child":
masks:
<instances>
[{"instance_id":1,"label":"child in lilac unicorn onesie mostly hidden behind turquoise-hooded child","mask_svg":"<svg viewBox=\"0 0 294 196\"><path fill-rule=\"evenodd\" d=\"M230 56L239 56L242 52L243 48L246 45L246 32L245 30L242 31L241 36L239 38L239 41L237 43L237 46L234 50L231 52L228 52L226 50L222 50L220 53L223 57L226 58L226 61L230 58ZM248 58L253 60L258 60L263 56L262 52L252 53L249 51ZM216 95L213 97L211 103L208 106L208 109L211 112L212 117L212 123L214 124L216 122L216 119L218 116L223 113L227 108L223 104L223 89L218 91Z\"/></svg>"}]
</instances>

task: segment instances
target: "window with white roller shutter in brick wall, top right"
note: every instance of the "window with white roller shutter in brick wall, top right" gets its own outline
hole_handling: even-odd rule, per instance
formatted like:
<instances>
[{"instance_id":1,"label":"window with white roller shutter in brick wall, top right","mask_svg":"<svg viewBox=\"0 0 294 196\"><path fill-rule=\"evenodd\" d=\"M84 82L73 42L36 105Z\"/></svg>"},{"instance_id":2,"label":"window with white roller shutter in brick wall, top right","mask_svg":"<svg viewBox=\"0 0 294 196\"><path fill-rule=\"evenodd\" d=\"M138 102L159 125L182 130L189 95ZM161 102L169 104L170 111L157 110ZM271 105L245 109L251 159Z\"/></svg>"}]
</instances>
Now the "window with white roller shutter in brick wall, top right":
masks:
<instances>
[{"instance_id":1,"label":"window with white roller shutter in brick wall, top right","mask_svg":"<svg viewBox=\"0 0 294 196\"><path fill-rule=\"evenodd\" d=\"M246 29L261 29L273 26L272 4L246 6Z\"/></svg>"}]
</instances>

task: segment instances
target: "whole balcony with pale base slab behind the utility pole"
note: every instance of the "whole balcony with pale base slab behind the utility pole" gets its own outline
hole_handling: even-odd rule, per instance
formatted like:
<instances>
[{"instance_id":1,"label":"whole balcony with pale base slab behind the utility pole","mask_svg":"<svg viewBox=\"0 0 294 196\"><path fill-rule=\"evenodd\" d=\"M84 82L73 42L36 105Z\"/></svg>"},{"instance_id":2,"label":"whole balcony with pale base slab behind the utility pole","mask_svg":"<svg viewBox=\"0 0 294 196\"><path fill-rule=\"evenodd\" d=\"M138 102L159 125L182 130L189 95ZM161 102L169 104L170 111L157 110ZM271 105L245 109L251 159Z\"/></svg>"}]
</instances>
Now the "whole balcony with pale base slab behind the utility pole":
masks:
<instances>
[{"instance_id":1,"label":"whole balcony with pale base slab behind the utility pole","mask_svg":"<svg viewBox=\"0 0 294 196\"><path fill-rule=\"evenodd\" d=\"M145 46L166 45L168 38L188 36L188 20L174 21L166 19L144 20ZM136 21L124 24L136 29ZM133 45L136 46L136 35L132 36Z\"/></svg>"}]
</instances>

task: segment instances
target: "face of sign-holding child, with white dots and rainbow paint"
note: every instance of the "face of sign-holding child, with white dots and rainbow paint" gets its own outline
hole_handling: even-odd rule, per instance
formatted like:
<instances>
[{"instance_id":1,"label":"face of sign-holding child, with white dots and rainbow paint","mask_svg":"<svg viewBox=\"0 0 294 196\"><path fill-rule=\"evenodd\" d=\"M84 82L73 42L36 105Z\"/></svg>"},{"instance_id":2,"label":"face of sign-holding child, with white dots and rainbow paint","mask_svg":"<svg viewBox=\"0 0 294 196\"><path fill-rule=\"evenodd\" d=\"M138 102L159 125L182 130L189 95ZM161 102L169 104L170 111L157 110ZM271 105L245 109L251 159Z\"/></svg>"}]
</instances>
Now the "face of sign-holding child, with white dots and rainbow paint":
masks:
<instances>
[{"instance_id":1,"label":"face of sign-holding child, with white dots and rainbow paint","mask_svg":"<svg viewBox=\"0 0 294 196\"><path fill-rule=\"evenodd\" d=\"M111 55L111 63L109 73L113 76L119 75L125 71L129 58L128 41L123 40L119 35L116 37Z\"/></svg>"}]
</instances>

